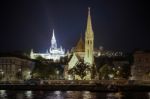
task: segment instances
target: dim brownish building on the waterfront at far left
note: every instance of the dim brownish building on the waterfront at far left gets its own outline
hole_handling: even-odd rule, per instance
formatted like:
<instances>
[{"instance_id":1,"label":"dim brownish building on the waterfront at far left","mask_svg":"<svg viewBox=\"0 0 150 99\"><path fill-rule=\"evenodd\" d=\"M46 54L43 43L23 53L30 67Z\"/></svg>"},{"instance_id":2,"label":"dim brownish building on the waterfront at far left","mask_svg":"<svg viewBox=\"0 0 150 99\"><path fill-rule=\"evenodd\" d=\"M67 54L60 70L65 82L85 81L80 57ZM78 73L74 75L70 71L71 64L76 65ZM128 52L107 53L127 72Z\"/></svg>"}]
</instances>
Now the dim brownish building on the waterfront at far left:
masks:
<instances>
[{"instance_id":1,"label":"dim brownish building on the waterfront at far left","mask_svg":"<svg viewBox=\"0 0 150 99\"><path fill-rule=\"evenodd\" d=\"M16 81L31 78L34 62L16 56L0 57L0 80Z\"/></svg>"}]
</instances>

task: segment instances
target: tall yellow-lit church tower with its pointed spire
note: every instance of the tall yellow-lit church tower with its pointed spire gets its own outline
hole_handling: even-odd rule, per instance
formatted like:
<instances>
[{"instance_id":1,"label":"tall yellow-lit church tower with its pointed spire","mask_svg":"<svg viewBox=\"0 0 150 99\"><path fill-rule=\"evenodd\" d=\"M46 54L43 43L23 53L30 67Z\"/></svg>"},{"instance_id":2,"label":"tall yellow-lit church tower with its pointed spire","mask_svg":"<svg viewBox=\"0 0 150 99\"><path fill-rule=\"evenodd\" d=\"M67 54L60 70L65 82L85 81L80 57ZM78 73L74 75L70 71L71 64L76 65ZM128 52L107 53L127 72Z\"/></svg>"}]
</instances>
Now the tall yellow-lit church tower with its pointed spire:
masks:
<instances>
[{"instance_id":1,"label":"tall yellow-lit church tower with its pointed spire","mask_svg":"<svg viewBox=\"0 0 150 99\"><path fill-rule=\"evenodd\" d=\"M88 19L85 32L85 57L84 57L85 63L93 64L94 62L93 47L94 47L94 32L92 29L90 8L88 8Z\"/></svg>"}]
</instances>

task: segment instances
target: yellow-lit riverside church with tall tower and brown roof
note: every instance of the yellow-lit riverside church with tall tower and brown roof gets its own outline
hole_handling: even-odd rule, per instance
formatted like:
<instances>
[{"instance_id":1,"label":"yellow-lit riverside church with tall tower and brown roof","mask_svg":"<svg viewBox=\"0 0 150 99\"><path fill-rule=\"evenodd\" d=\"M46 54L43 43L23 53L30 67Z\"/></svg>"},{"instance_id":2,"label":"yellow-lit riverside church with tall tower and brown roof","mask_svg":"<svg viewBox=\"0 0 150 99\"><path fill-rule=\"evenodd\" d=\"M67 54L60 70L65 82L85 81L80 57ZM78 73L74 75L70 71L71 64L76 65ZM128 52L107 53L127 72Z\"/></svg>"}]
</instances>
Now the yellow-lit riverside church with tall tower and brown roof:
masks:
<instances>
[{"instance_id":1,"label":"yellow-lit riverside church with tall tower and brown roof","mask_svg":"<svg viewBox=\"0 0 150 99\"><path fill-rule=\"evenodd\" d=\"M73 55L71 56L68 65L64 69L65 79L68 80L81 80L78 75L69 75L68 71L76 66L81 60L84 63L88 63L90 66L94 65L94 32L92 29L90 8L88 9L87 27L85 31L85 42L83 42L82 37L80 37L76 47L73 50ZM84 77L84 80L91 80L91 73L88 72Z\"/></svg>"}]
</instances>

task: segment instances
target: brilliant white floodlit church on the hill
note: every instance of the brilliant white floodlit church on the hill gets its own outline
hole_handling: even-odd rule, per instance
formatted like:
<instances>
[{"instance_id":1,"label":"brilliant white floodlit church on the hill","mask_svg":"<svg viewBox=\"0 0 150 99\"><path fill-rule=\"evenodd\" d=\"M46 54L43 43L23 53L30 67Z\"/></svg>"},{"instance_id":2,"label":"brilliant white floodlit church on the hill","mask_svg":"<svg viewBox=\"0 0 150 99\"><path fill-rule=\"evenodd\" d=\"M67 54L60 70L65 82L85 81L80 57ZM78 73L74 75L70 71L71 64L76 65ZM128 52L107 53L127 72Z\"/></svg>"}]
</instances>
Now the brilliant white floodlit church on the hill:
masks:
<instances>
[{"instance_id":1,"label":"brilliant white floodlit church on the hill","mask_svg":"<svg viewBox=\"0 0 150 99\"><path fill-rule=\"evenodd\" d=\"M53 30L52 39L51 39L51 47L47 50L46 53L34 53L33 49L30 53L31 59L36 59L37 57L42 57L44 59L52 59L53 61L59 61L61 57L65 56L65 50L60 47L57 47L57 42L55 38L55 33Z\"/></svg>"}]
</instances>

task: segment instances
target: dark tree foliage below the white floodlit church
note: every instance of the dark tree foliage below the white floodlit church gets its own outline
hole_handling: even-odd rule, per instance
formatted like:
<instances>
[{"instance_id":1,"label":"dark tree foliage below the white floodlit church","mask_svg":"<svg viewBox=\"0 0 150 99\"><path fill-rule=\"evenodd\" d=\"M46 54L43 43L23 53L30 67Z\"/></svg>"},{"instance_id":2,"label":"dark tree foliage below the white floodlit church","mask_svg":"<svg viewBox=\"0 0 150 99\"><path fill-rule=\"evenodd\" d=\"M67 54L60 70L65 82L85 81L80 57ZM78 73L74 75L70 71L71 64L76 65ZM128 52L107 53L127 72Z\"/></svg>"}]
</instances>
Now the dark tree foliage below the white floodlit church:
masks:
<instances>
[{"instance_id":1,"label":"dark tree foliage below the white floodlit church","mask_svg":"<svg viewBox=\"0 0 150 99\"><path fill-rule=\"evenodd\" d=\"M44 60L39 57L35 62L32 75L34 78L55 79L54 76L56 76L56 70L59 71L59 75L62 75L63 67L61 64Z\"/></svg>"}]
</instances>

